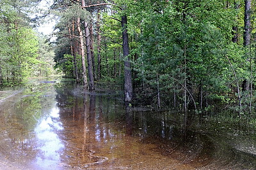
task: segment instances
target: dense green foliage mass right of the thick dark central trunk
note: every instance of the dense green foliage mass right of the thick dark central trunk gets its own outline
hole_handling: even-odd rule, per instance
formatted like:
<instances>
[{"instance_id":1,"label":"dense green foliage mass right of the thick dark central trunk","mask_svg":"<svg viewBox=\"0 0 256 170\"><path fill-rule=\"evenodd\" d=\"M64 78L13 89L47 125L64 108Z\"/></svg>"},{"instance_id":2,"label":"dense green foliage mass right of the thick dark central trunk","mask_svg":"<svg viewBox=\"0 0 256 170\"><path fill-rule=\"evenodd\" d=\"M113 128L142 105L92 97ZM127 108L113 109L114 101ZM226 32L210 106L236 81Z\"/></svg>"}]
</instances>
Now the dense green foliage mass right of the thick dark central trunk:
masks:
<instances>
[{"instance_id":1,"label":"dense green foliage mass right of the thick dark central trunk","mask_svg":"<svg viewBox=\"0 0 256 170\"><path fill-rule=\"evenodd\" d=\"M230 41L237 11L225 8L220 1L146 2L149 3L142 1L135 9L130 8L130 23L134 24L134 31L138 25L141 31L135 69L143 89L147 89L148 104L157 103L157 83L163 106L172 104L173 97L176 106L182 104L185 80L192 95L188 95L188 103L198 100L202 93L203 99L197 104L229 104L233 100L230 88L236 84L225 55L234 66L239 83L249 76L243 48Z\"/></svg>"}]
</instances>

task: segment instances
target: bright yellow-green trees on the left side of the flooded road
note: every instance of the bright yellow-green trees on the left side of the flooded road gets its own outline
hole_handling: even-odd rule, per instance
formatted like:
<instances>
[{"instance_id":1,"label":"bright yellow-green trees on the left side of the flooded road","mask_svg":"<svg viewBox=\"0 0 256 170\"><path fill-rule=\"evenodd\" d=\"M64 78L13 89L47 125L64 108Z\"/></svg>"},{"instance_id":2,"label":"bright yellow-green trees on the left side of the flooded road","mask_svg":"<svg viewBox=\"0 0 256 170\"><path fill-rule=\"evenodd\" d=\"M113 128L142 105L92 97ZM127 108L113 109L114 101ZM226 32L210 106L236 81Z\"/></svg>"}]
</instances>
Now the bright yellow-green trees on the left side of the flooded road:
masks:
<instances>
[{"instance_id":1,"label":"bright yellow-green trees on the left side of the flooded road","mask_svg":"<svg viewBox=\"0 0 256 170\"><path fill-rule=\"evenodd\" d=\"M37 1L0 1L0 86L53 73L54 53L47 37L33 29Z\"/></svg>"}]
</instances>

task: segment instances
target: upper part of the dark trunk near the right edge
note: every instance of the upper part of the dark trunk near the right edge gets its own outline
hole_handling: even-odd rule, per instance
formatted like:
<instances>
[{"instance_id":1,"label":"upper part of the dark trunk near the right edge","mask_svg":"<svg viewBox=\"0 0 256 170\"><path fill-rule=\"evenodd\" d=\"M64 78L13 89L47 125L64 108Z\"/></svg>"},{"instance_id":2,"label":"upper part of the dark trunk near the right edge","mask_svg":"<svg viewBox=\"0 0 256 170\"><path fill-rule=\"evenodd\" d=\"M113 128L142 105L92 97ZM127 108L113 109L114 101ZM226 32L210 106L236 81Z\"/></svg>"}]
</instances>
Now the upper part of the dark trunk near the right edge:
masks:
<instances>
[{"instance_id":1,"label":"upper part of the dark trunk near the right edge","mask_svg":"<svg viewBox=\"0 0 256 170\"><path fill-rule=\"evenodd\" d=\"M251 5L252 0L244 1L244 46L248 46L250 44L251 39Z\"/></svg>"}]
</instances>

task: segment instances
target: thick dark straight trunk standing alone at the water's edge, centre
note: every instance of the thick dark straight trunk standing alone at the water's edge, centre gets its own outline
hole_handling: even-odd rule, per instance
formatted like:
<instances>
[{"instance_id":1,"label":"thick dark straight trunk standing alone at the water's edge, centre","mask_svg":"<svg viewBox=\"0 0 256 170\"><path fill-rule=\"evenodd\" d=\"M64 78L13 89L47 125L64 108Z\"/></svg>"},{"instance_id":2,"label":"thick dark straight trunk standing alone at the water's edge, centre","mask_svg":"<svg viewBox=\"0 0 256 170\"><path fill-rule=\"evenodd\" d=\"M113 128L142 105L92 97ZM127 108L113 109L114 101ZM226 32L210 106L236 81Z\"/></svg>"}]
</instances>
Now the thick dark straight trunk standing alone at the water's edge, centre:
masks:
<instances>
[{"instance_id":1,"label":"thick dark straight trunk standing alone at the water's edge, centre","mask_svg":"<svg viewBox=\"0 0 256 170\"><path fill-rule=\"evenodd\" d=\"M122 16L122 38L123 38L123 54L124 54L124 94L125 102L132 101L132 76L131 62L129 59L129 39L127 33L127 16Z\"/></svg>"}]
</instances>

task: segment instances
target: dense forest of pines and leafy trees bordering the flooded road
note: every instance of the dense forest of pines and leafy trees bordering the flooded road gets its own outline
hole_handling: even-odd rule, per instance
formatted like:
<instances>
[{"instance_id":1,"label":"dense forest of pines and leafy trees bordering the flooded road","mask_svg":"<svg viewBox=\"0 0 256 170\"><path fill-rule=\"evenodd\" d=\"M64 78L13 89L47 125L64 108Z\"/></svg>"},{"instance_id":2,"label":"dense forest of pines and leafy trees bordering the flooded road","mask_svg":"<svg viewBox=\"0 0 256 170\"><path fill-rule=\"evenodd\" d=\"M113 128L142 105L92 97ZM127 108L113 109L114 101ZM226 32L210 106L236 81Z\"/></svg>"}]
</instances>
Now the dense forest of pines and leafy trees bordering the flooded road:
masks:
<instances>
[{"instance_id":1,"label":"dense forest of pines and leafy trees bordering the flooded road","mask_svg":"<svg viewBox=\"0 0 256 170\"><path fill-rule=\"evenodd\" d=\"M85 90L121 84L130 106L255 115L255 2L252 0L0 1L0 85L54 68ZM38 35L54 15L56 40ZM54 53L52 53L54 49Z\"/></svg>"}]
</instances>

